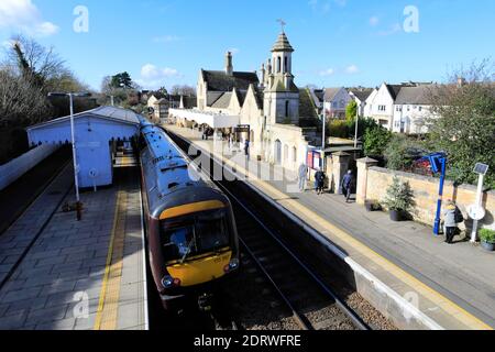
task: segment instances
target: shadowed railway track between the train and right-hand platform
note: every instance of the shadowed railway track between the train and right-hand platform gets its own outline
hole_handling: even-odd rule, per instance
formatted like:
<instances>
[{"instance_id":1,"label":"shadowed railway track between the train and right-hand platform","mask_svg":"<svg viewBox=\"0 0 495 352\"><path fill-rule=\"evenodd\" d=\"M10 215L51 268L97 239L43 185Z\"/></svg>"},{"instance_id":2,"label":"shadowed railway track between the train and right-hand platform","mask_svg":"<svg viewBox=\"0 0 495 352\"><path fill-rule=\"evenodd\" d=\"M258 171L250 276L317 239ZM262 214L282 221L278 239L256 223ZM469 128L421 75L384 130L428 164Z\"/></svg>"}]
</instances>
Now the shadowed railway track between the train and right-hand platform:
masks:
<instances>
[{"instance_id":1,"label":"shadowed railway track between the train and right-hand platform","mask_svg":"<svg viewBox=\"0 0 495 352\"><path fill-rule=\"evenodd\" d=\"M187 151L189 142L174 138ZM254 263L300 329L370 330L363 319L284 243L275 227L267 224L232 191L235 182L216 184L232 201L240 241L250 257L246 260L244 255L243 264Z\"/></svg>"}]
</instances>

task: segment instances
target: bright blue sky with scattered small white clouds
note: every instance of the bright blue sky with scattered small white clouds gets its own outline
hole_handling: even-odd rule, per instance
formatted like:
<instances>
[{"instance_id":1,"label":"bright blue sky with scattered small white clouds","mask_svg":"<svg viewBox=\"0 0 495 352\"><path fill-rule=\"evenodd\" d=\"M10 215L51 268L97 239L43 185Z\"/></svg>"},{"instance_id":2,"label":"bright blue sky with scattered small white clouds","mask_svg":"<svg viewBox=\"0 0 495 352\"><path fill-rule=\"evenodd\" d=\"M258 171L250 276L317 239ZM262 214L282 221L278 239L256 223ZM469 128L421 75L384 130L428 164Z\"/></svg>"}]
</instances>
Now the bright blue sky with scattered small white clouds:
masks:
<instances>
[{"instance_id":1,"label":"bright blue sky with scattered small white clouds","mask_svg":"<svg viewBox=\"0 0 495 352\"><path fill-rule=\"evenodd\" d=\"M144 89L196 86L227 51L258 70L283 19L298 86L375 87L495 59L494 13L493 0L0 0L0 44L54 46L94 89L124 70Z\"/></svg>"}]
</instances>

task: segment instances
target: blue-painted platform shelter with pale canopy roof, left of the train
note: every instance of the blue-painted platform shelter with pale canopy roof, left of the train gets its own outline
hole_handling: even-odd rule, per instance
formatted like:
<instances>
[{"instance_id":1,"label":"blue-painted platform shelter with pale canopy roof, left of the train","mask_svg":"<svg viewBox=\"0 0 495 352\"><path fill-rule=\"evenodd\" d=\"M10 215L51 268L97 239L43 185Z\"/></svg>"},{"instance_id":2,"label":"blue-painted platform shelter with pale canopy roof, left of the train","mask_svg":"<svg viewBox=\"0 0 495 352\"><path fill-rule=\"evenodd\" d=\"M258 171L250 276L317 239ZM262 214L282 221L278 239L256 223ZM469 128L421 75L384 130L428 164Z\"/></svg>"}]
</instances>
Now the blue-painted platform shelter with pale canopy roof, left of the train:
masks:
<instances>
[{"instance_id":1,"label":"blue-painted platform shelter with pale canopy roof, left of the train","mask_svg":"<svg viewBox=\"0 0 495 352\"><path fill-rule=\"evenodd\" d=\"M112 184L111 141L130 141L139 134L140 120L131 110L100 107L74 116L78 178L81 188ZM70 143L70 117L26 129L31 145Z\"/></svg>"}]
</instances>

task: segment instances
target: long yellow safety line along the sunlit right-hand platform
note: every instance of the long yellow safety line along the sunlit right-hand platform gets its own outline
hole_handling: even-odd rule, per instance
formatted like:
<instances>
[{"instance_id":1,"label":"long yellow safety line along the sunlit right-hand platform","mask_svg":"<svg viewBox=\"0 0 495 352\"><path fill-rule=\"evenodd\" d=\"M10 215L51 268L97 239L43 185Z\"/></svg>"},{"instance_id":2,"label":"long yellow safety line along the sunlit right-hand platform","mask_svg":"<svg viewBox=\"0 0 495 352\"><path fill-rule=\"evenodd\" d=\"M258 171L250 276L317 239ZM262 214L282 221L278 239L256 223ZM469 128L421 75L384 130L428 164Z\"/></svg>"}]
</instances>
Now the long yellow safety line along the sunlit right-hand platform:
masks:
<instances>
[{"instance_id":1,"label":"long yellow safety line along the sunlit right-hand platform","mask_svg":"<svg viewBox=\"0 0 495 352\"><path fill-rule=\"evenodd\" d=\"M199 145L199 142L193 142L197 145ZM217 155L215 152L211 152L211 148L208 147L211 154ZM235 162L232 162L231 160L224 158L223 155L221 155L221 158L226 162L226 164L229 164L230 166L235 166L238 170L242 172L243 174L249 175L251 183L260 184L261 187L265 188L265 190L271 191L272 195L276 196L277 198L272 197L274 201L280 204L284 208L290 211L290 209L287 206L292 206L295 208L295 210L299 210L302 212L307 219L314 219L320 227L323 229L330 229L330 231L337 235L342 241L351 244L356 251L361 252L362 254L370 257L373 262L381 265L385 270L387 270L388 273L392 273L394 276L398 277L409 286L414 287L417 290L424 289L426 293L424 295L428 297L430 300L432 300L435 304L437 304L441 309L449 312L450 315L464 315L464 319L468 320L468 322L461 317L455 317L458 320L462 321L463 323L468 324L471 328L475 329L485 329L485 330L493 330L492 327L490 327L487 323L483 322L469 311L466 311L464 308L458 306L455 302L451 301L449 298L444 297L437 290L432 289L425 283L420 282L409 273L405 272L400 267L398 267L396 264L387 260L386 257L382 256L381 254L376 253L365 244L363 244L361 241L354 239L350 233L337 228L332 223L330 223L327 219L321 218L320 216L316 215L312 210L306 208L305 206L300 205L298 201L294 199L287 199L287 195L279 191L272 185L257 179L256 175L253 175L251 172L246 170ZM286 204L286 206L284 206ZM295 211L292 211L296 213Z\"/></svg>"}]
</instances>

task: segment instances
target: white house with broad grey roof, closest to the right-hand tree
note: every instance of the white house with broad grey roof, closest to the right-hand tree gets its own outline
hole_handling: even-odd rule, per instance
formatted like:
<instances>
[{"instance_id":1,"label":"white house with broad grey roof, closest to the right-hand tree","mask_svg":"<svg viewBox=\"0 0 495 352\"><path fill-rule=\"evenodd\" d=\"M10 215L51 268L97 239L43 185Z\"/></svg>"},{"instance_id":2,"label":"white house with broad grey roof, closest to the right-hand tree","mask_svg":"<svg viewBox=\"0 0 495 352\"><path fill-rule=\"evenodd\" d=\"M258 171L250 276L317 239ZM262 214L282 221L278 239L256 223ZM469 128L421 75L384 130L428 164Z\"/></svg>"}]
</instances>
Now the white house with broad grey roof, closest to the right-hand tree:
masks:
<instances>
[{"instance_id":1,"label":"white house with broad grey roof, closest to the right-hand tree","mask_svg":"<svg viewBox=\"0 0 495 352\"><path fill-rule=\"evenodd\" d=\"M431 89L433 85L404 87L394 105L393 131L397 133L420 134L428 132L427 121L435 118L431 112Z\"/></svg>"}]
</instances>

